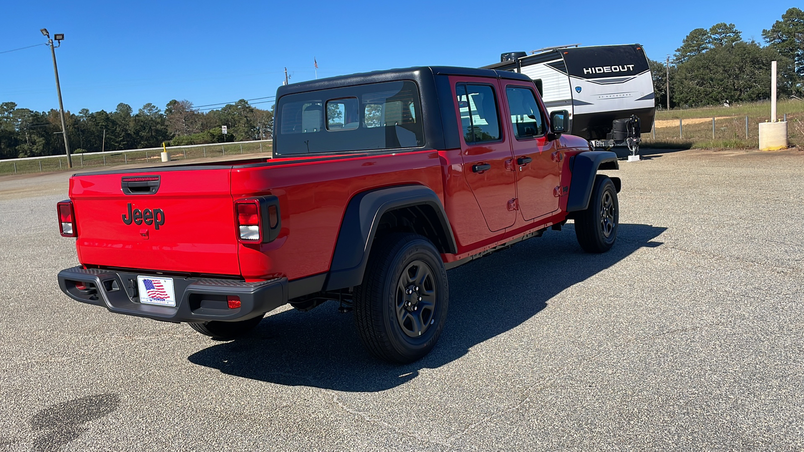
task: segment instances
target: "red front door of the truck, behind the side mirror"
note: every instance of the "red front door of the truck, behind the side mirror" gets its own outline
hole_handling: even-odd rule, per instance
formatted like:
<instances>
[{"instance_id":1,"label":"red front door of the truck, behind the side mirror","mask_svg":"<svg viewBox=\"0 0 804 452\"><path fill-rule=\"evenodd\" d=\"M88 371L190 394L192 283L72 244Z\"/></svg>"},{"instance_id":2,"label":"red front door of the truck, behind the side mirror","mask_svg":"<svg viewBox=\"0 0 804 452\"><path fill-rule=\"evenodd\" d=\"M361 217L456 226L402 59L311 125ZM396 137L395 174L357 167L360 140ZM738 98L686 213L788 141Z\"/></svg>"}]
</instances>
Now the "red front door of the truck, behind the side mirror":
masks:
<instances>
[{"instance_id":1,"label":"red front door of the truck, behind the side mirror","mask_svg":"<svg viewBox=\"0 0 804 452\"><path fill-rule=\"evenodd\" d=\"M556 192L556 187L563 155L558 140L547 139L547 121L536 101L534 85L506 83L505 93L519 210L524 220L533 220L558 210L560 191Z\"/></svg>"}]
</instances>

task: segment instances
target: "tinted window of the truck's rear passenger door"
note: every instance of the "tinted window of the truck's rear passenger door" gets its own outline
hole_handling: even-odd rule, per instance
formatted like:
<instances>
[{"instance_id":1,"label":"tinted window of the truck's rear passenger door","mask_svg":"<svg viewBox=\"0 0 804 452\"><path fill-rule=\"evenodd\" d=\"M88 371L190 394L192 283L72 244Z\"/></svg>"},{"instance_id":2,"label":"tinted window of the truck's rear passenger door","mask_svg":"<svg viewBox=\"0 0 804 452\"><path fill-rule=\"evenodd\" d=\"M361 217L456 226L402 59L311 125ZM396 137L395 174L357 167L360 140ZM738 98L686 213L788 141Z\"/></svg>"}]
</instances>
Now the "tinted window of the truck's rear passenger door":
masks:
<instances>
[{"instance_id":1,"label":"tinted window of the truck's rear passenger door","mask_svg":"<svg viewBox=\"0 0 804 452\"><path fill-rule=\"evenodd\" d=\"M500 126L494 88L487 84L458 84L455 89L464 141L478 143L498 140Z\"/></svg>"}]
</instances>

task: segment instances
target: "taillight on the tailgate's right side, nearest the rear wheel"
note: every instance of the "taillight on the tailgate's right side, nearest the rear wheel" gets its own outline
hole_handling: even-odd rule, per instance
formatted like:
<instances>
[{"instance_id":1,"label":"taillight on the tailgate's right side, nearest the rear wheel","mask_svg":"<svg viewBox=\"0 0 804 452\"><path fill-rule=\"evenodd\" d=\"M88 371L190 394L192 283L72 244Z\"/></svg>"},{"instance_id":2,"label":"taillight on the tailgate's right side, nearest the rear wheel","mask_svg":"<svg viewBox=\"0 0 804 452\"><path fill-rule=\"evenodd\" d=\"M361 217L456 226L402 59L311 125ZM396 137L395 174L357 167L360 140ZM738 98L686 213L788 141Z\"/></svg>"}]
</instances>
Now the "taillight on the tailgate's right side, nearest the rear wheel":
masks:
<instances>
[{"instance_id":1,"label":"taillight on the tailgate's right side, nearest the rear wheel","mask_svg":"<svg viewBox=\"0 0 804 452\"><path fill-rule=\"evenodd\" d=\"M279 198L273 195L235 201L237 240L241 243L268 243L279 236L282 218Z\"/></svg>"}]
</instances>

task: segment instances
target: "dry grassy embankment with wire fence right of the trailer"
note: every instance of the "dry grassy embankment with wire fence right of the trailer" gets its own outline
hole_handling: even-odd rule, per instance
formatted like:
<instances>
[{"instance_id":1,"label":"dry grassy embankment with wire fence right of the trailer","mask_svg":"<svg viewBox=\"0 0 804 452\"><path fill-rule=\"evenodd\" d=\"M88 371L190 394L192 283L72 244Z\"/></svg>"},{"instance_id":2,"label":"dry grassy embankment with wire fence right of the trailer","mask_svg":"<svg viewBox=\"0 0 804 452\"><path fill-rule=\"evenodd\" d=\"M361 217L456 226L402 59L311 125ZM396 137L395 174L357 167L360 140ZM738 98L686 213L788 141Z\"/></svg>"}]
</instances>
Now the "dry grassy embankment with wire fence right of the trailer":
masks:
<instances>
[{"instance_id":1,"label":"dry grassy embankment with wire fence right of the trailer","mask_svg":"<svg viewBox=\"0 0 804 452\"><path fill-rule=\"evenodd\" d=\"M777 102L777 120L787 113L790 144L804 146L804 101ZM745 136L745 117L749 117L749 134ZM712 117L715 137L712 138ZM682 135L679 137L679 119ZM656 112L655 138L652 132L642 134L642 146L696 149L756 149L759 147L759 123L769 121L770 101L731 107L672 109Z\"/></svg>"}]
</instances>

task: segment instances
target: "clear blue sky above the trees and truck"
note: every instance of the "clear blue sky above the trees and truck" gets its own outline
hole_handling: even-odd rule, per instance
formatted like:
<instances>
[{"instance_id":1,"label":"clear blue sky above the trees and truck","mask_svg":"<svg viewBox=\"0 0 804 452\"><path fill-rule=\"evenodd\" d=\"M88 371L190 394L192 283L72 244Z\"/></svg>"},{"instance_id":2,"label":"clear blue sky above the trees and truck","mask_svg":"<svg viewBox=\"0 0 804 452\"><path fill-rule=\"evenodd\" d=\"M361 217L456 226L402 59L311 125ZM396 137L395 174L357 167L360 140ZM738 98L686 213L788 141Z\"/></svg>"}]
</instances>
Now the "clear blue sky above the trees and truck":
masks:
<instances>
[{"instance_id":1,"label":"clear blue sky above the trees and truck","mask_svg":"<svg viewBox=\"0 0 804 452\"><path fill-rule=\"evenodd\" d=\"M744 39L781 19L770 2L3 2L0 52L64 33L56 49L64 108L164 109L269 97L293 81L384 68L478 67L505 51L641 43L664 60L689 31L734 23ZM0 102L58 107L46 46L0 53ZM270 104L256 106L266 107Z\"/></svg>"}]
</instances>

